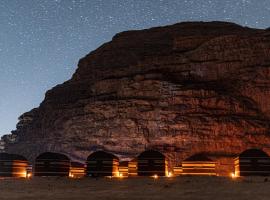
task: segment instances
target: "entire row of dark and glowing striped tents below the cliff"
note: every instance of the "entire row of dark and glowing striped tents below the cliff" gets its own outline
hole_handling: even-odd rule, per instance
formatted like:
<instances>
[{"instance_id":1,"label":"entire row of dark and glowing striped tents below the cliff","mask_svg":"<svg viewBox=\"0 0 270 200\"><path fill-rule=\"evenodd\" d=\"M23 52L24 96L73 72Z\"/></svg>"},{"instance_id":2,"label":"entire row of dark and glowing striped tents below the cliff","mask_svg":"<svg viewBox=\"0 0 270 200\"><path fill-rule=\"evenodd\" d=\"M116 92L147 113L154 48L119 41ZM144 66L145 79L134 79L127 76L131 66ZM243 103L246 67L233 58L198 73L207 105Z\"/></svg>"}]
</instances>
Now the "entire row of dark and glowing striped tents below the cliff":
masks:
<instances>
[{"instance_id":1,"label":"entire row of dark and glowing striped tents below the cliff","mask_svg":"<svg viewBox=\"0 0 270 200\"><path fill-rule=\"evenodd\" d=\"M262 150L249 149L235 159L235 175L270 175L270 157ZM0 177L27 177L31 173L26 158L0 154ZM63 154L46 152L35 159L34 176L168 176L166 157L154 150L141 153L132 161L119 162L118 157L104 151L92 153L86 166L71 162ZM217 175L216 162L204 154L193 155L174 167L174 175Z\"/></svg>"}]
</instances>

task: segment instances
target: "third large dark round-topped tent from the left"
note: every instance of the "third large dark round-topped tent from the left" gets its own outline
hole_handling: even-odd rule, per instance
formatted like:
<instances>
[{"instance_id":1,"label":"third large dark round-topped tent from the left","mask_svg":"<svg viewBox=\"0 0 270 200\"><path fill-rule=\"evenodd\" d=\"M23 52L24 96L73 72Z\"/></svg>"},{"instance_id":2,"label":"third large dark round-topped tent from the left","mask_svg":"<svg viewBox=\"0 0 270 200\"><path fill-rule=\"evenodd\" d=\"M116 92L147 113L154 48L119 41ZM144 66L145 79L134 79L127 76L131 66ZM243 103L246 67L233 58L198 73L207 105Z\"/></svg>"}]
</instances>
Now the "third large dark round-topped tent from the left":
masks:
<instances>
[{"instance_id":1,"label":"third large dark round-topped tent from the left","mask_svg":"<svg viewBox=\"0 0 270 200\"><path fill-rule=\"evenodd\" d=\"M104 151L92 153L87 158L87 176L118 176L119 159Z\"/></svg>"}]
</instances>

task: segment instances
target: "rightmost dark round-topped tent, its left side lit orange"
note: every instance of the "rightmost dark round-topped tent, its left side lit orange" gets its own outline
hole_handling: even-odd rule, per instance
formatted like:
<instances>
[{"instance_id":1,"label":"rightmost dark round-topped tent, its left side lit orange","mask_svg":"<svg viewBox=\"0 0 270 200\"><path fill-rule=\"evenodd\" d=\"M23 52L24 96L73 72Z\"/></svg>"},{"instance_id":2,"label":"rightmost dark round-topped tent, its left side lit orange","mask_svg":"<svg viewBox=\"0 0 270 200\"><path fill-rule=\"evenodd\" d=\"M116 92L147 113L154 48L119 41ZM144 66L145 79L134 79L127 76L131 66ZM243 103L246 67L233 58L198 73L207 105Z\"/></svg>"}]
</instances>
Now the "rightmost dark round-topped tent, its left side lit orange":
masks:
<instances>
[{"instance_id":1,"label":"rightmost dark round-topped tent, its left side lit orange","mask_svg":"<svg viewBox=\"0 0 270 200\"><path fill-rule=\"evenodd\" d=\"M235 160L235 176L269 176L270 157L259 149L242 152Z\"/></svg>"}]
</instances>

